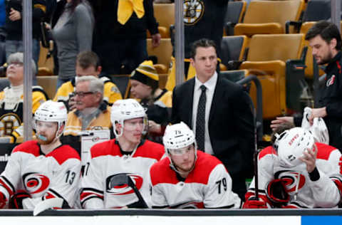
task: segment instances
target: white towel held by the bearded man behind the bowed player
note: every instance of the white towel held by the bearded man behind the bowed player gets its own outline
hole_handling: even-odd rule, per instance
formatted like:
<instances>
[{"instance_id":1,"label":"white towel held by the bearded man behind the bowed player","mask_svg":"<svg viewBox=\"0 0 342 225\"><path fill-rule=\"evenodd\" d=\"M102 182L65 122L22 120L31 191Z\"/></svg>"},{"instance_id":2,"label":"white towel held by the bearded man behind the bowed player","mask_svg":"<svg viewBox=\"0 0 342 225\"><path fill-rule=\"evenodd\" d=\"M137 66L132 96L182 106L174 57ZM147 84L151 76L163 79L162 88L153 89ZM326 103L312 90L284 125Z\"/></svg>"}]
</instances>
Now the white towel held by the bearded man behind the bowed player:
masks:
<instances>
[{"instance_id":1,"label":"white towel held by the bearded man behind the bowed player","mask_svg":"<svg viewBox=\"0 0 342 225\"><path fill-rule=\"evenodd\" d=\"M315 117L314 122L311 125L309 122L309 117L311 115L312 109L309 107L304 108L303 120L301 121L301 127L310 130L314 135L316 142L321 142L326 145L329 144L329 132L326 123L321 117Z\"/></svg>"}]
</instances>

